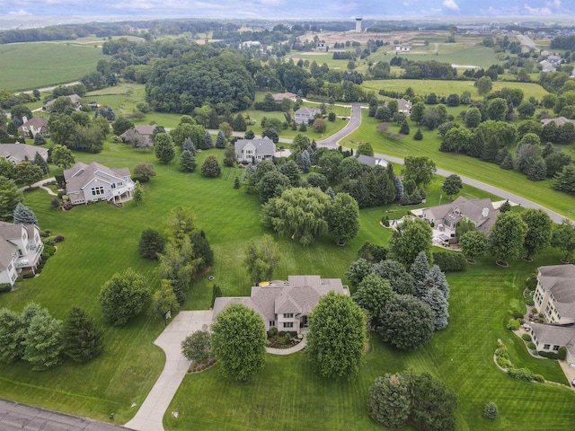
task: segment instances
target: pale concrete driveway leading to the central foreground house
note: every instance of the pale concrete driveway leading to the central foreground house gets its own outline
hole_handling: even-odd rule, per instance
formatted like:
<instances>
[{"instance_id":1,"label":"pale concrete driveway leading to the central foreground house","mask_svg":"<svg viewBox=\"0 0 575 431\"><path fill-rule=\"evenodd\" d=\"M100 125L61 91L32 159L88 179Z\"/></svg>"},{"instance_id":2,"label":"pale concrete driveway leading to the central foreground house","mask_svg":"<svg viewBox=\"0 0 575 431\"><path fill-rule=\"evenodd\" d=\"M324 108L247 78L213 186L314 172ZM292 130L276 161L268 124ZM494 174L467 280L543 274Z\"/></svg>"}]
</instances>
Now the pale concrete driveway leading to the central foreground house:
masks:
<instances>
[{"instance_id":1,"label":"pale concrete driveway leading to the central foreground house","mask_svg":"<svg viewBox=\"0 0 575 431\"><path fill-rule=\"evenodd\" d=\"M208 330L211 323L211 310L180 312L155 340L154 344L165 352L164 370L126 427L138 431L164 431L165 411L190 366L190 361L181 356L181 341L195 330Z\"/></svg>"}]
</instances>

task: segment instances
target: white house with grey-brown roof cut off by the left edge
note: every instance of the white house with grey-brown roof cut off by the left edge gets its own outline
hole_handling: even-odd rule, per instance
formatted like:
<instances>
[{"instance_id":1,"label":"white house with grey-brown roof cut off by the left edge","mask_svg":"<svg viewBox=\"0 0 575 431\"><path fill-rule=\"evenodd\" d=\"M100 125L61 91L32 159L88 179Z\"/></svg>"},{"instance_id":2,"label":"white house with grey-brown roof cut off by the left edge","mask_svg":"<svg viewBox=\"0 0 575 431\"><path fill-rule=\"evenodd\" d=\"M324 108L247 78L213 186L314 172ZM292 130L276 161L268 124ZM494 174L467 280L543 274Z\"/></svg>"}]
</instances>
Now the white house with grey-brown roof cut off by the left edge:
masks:
<instances>
[{"instance_id":1,"label":"white house with grey-brown roof cut off by the left edge","mask_svg":"<svg viewBox=\"0 0 575 431\"><path fill-rule=\"evenodd\" d=\"M13 286L22 269L33 271L42 251L44 244L37 225L0 222L0 284Z\"/></svg>"}]
</instances>

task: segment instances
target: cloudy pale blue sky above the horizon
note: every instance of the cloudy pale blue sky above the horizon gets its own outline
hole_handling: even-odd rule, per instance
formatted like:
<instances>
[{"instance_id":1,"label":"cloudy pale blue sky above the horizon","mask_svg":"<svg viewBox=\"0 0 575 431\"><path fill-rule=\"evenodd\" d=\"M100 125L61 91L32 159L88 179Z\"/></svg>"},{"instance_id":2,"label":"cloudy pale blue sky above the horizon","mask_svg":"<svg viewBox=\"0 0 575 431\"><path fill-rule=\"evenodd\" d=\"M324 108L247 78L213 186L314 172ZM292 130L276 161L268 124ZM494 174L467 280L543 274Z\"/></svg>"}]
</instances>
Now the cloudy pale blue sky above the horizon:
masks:
<instances>
[{"instance_id":1,"label":"cloudy pale blue sky above the horizon","mask_svg":"<svg viewBox=\"0 0 575 431\"><path fill-rule=\"evenodd\" d=\"M0 17L38 16L349 19L526 16L575 13L573 0L0 0Z\"/></svg>"}]
</instances>

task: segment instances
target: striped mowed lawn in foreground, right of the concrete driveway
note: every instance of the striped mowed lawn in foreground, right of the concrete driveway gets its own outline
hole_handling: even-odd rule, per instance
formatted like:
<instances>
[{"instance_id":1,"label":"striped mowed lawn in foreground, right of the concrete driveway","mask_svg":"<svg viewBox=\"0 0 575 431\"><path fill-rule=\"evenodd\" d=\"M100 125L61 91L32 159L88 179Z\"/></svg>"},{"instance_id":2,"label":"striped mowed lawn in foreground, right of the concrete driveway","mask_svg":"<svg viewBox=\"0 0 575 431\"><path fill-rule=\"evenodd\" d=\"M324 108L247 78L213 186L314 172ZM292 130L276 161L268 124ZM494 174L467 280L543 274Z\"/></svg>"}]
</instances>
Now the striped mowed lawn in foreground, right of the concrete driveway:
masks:
<instances>
[{"instance_id":1,"label":"striped mowed lawn in foreground, right of the concrete driveway","mask_svg":"<svg viewBox=\"0 0 575 431\"><path fill-rule=\"evenodd\" d=\"M386 346L372 334L366 363L349 381L318 377L303 353L267 355L265 368L248 383L227 380L218 373L218 366L189 374L166 412L164 427L172 431L382 429L367 415L369 386L379 375L412 368L433 374L456 392L457 429L569 428L575 420L575 395L570 389L511 379L492 358L497 339L503 339L514 365L528 366L547 379L567 384L556 362L528 356L523 341L505 329L509 307L520 297L526 275L539 265L557 263L559 257L550 252L531 264L514 261L509 268L497 267L491 258L482 259L464 273L449 274L447 329L415 352ZM490 400L500 409L494 422L482 418L483 406ZM173 418L173 410L179 418Z\"/></svg>"}]
</instances>

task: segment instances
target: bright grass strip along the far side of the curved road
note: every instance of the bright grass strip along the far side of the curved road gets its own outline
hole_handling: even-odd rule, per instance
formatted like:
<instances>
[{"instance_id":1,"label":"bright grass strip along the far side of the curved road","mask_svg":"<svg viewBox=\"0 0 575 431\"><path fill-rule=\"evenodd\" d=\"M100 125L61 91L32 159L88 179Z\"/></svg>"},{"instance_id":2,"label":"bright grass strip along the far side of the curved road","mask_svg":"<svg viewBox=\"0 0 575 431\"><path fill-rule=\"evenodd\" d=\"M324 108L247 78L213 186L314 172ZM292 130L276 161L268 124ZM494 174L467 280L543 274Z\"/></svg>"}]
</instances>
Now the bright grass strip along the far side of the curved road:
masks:
<instances>
[{"instance_id":1,"label":"bright grass strip along the far side of the curved road","mask_svg":"<svg viewBox=\"0 0 575 431\"><path fill-rule=\"evenodd\" d=\"M409 136L400 140L384 136L376 131L378 120L369 118L365 111L362 112L362 116L361 126L346 137L341 145L357 148L359 142L369 142L376 154L388 154L402 158L408 155L427 156L436 163L438 168L508 190L563 216L575 218L575 198L552 189L552 180L530 181L526 180L525 175L516 171L503 170L494 163L482 162L480 159L465 154L442 153L439 151L441 136L438 131L420 128L423 139L416 141L413 139L413 135L418 126L411 120L409 120L411 128ZM391 129L394 133L399 130L395 126L392 126ZM570 148L571 146L566 148L567 152L571 151ZM511 152L514 153L515 150L511 149Z\"/></svg>"}]
</instances>

